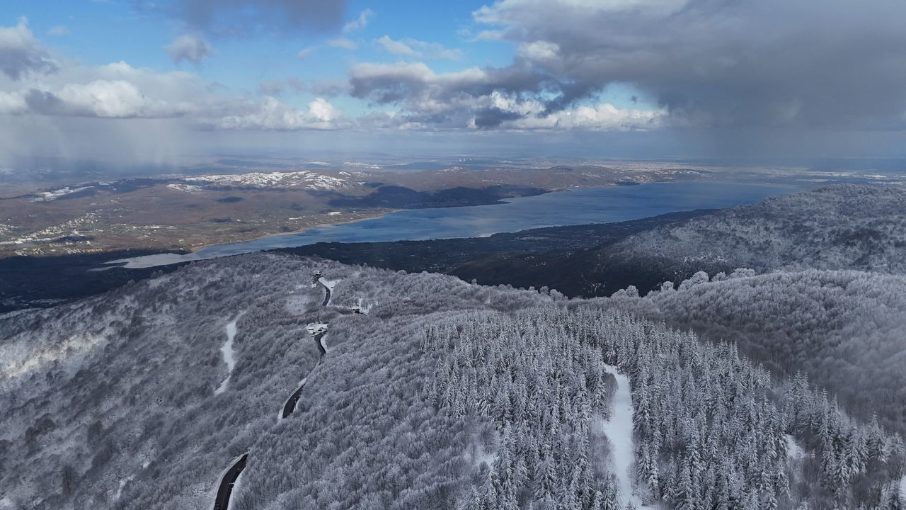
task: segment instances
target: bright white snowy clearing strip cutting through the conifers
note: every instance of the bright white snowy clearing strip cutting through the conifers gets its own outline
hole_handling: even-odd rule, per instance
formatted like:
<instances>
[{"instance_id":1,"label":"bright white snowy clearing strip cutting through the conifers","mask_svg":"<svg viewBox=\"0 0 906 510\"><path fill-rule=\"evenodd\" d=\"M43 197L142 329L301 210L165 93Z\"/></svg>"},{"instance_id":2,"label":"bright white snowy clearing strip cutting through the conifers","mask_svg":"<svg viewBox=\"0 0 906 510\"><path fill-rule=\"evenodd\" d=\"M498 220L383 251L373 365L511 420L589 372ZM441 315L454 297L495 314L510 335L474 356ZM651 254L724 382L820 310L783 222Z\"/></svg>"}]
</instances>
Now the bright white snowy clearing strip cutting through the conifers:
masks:
<instances>
[{"instance_id":1,"label":"bright white snowy clearing strip cutting through the conifers","mask_svg":"<svg viewBox=\"0 0 906 510\"><path fill-rule=\"evenodd\" d=\"M613 446L613 473L617 476L617 486L620 489L620 500L623 505L631 503L636 508L653 508L642 505L641 498L632 490L631 469L635 459L635 447L632 446L632 396L630 393L629 378L622 375L612 365L604 368L617 379L616 394L613 396L611 419L601 420L603 433Z\"/></svg>"}]
</instances>

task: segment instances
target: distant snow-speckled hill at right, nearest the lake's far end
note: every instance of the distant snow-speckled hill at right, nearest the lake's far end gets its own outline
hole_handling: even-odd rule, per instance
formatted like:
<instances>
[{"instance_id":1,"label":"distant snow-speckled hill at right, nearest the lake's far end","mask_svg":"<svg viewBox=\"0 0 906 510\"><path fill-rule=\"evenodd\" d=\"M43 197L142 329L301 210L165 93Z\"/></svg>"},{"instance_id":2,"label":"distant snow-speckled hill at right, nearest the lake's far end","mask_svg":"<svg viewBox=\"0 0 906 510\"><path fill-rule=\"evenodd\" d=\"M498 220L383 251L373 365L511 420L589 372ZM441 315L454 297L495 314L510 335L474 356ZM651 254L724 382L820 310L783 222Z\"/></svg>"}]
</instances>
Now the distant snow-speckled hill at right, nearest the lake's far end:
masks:
<instances>
[{"instance_id":1,"label":"distant snow-speckled hill at right, nearest the lake's far end","mask_svg":"<svg viewBox=\"0 0 906 510\"><path fill-rule=\"evenodd\" d=\"M828 186L631 236L599 253L684 279L697 270L906 273L906 187Z\"/></svg>"}]
</instances>

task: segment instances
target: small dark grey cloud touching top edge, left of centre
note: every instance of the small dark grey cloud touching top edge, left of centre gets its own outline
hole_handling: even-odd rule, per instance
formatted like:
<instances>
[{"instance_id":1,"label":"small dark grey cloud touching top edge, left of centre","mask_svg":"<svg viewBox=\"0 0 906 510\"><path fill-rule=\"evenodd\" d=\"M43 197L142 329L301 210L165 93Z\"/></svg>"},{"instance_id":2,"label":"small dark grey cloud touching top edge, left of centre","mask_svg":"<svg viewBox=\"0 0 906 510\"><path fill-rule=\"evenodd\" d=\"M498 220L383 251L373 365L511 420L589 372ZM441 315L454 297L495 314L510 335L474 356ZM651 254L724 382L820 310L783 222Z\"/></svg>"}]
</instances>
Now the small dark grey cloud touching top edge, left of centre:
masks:
<instances>
[{"instance_id":1,"label":"small dark grey cloud touching top edge, left of centre","mask_svg":"<svg viewBox=\"0 0 906 510\"><path fill-rule=\"evenodd\" d=\"M138 0L161 9L195 30L220 35L328 33L344 22L346 0Z\"/></svg>"}]
</instances>

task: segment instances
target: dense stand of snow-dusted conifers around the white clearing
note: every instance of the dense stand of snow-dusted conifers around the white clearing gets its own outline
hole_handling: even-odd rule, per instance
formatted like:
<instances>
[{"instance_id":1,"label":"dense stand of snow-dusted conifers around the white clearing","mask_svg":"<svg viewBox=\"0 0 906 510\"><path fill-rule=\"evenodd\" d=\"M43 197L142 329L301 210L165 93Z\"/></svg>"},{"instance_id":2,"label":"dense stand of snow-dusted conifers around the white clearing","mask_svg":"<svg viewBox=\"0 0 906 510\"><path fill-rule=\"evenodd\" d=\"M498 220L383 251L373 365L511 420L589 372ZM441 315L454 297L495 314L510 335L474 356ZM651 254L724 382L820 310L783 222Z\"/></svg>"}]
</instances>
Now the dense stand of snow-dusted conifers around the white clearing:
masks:
<instances>
[{"instance_id":1,"label":"dense stand of snow-dusted conifers around the white clearing","mask_svg":"<svg viewBox=\"0 0 906 510\"><path fill-rule=\"evenodd\" d=\"M622 508L594 423L613 364L631 380L633 489L645 505L897 507L903 444L847 417L807 378L771 381L733 345L598 304L477 313L429 328L433 401L500 431L467 508ZM804 454L795 455L801 448ZM614 448L615 450L615 448Z\"/></svg>"}]
</instances>

